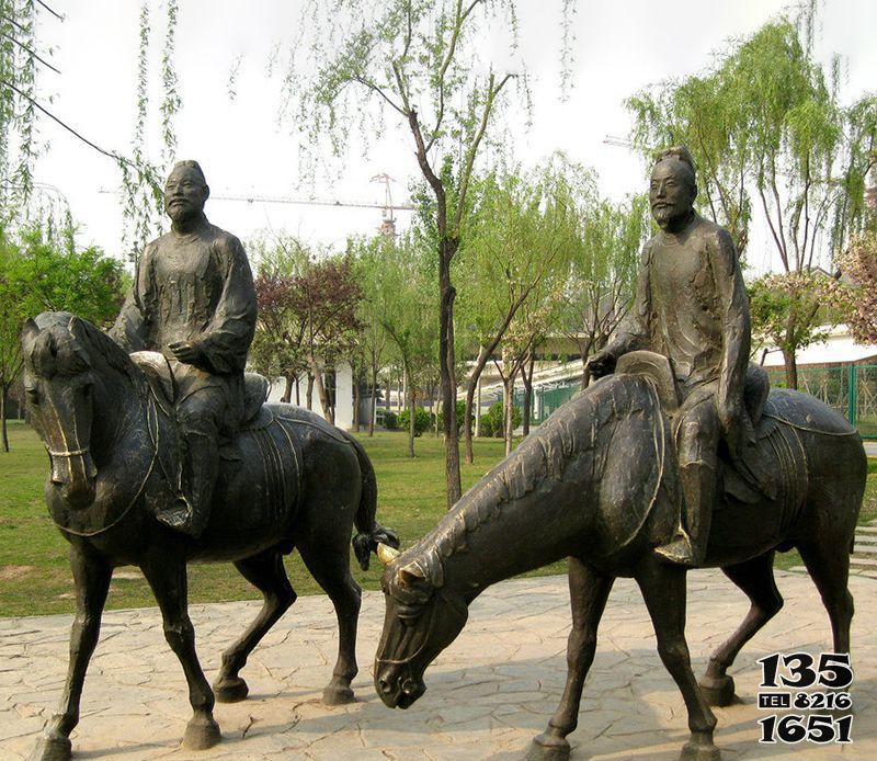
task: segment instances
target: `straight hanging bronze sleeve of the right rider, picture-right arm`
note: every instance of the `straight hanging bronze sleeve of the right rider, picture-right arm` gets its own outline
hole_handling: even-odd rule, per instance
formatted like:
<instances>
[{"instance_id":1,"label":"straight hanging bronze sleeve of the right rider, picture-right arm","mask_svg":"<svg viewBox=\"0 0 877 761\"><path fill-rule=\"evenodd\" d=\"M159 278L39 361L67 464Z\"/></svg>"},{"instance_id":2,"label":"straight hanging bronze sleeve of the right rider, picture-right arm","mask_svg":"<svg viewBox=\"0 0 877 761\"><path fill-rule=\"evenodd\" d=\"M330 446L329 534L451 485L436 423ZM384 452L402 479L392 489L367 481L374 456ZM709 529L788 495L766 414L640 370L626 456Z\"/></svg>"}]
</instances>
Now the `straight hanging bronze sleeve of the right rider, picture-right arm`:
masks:
<instances>
[{"instance_id":1,"label":"straight hanging bronze sleeve of the right rider, picture-right arm","mask_svg":"<svg viewBox=\"0 0 877 761\"><path fill-rule=\"evenodd\" d=\"M713 276L719 297L725 340L718 402L720 406L729 401L740 405L743 399L743 380L749 365L752 331L749 319L749 296L743 284L740 261L727 230L718 230L715 243L708 246L708 253L713 260Z\"/></svg>"}]
</instances>

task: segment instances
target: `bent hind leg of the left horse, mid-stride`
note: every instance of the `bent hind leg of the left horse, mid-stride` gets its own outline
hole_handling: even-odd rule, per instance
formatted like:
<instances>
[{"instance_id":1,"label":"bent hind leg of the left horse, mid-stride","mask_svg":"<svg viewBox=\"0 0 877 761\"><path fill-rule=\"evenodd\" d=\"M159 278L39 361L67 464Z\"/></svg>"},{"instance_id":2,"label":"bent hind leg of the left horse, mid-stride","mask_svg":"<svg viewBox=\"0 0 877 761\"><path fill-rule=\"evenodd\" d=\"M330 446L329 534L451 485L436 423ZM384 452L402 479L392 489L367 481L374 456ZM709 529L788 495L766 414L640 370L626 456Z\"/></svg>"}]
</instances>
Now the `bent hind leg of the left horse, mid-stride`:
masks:
<instances>
[{"instance_id":1,"label":"bent hind leg of the left horse, mid-stride","mask_svg":"<svg viewBox=\"0 0 877 761\"><path fill-rule=\"evenodd\" d=\"M235 568L262 592L264 604L243 635L223 654L223 666L219 669L219 675L213 683L216 700L220 703L235 703L247 697L247 682L238 675L238 672L247 663L247 658L253 648L289 610L296 599L295 590L293 590L286 576L286 569L283 567L283 556L277 550L271 549L238 560L235 563Z\"/></svg>"}]
</instances>

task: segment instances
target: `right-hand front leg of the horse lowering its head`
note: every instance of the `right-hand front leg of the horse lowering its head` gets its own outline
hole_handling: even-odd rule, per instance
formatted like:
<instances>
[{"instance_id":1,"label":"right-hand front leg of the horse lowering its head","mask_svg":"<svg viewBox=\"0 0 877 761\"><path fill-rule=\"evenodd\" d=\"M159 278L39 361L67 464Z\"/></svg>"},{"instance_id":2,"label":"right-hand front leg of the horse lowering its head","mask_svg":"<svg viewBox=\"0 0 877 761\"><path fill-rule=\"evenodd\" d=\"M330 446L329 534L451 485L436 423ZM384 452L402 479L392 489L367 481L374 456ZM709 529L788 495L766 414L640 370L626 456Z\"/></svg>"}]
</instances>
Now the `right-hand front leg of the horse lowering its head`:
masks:
<instances>
[{"instance_id":1,"label":"right-hand front leg of the horse lowering its head","mask_svg":"<svg viewBox=\"0 0 877 761\"><path fill-rule=\"evenodd\" d=\"M688 712L691 738L683 746L681 758L715 761L719 758L713 742L716 717L697 688L685 641L685 568L652 556L636 580L654 626L658 655L679 686Z\"/></svg>"}]
</instances>

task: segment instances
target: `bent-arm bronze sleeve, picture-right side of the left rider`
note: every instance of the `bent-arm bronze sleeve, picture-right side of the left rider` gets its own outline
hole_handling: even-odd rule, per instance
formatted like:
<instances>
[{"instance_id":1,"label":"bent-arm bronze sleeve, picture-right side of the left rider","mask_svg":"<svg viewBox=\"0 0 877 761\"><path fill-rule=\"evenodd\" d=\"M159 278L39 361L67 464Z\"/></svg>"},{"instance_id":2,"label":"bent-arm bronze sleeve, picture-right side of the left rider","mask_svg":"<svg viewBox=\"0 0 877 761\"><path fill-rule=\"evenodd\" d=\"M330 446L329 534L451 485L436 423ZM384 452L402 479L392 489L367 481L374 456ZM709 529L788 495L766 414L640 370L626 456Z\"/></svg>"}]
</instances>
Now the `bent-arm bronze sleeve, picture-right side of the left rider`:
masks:
<instances>
[{"instance_id":1,"label":"bent-arm bronze sleeve, picture-right side of the left rider","mask_svg":"<svg viewBox=\"0 0 877 761\"><path fill-rule=\"evenodd\" d=\"M243 372L255 331L255 286L241 242L231 235L216 239L223 293L200 348L209 370L220 375Z\"/></svg>"}]
</instances>

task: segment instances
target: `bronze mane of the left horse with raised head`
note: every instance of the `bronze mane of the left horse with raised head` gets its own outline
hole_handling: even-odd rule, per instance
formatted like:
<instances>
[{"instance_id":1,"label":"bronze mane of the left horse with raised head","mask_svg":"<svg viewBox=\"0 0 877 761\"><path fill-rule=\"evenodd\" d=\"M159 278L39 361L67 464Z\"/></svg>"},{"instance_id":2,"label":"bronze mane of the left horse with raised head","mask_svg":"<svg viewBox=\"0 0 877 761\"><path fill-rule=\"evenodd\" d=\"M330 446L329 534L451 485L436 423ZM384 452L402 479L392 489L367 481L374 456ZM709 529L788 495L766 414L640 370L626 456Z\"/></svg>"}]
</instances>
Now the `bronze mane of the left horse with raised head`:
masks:
<instances>
[{"instance_id":1,"label":"bronze mane of the left horse with raised head","mask_svg":"<svg viewBox=\"0 0 877 761\"><path fill-rule=\"evenodd\" d=\"M57 336L58 332L61 332L61 336L67 333L72 339L73 350L68 360L71 365L69 368L65 368L56 363L56 372L62 373L65 370L71 373L81 372L88 366L94 367L95 364L103 363L125 376L139 395L148 393L146 376L130 360L127 352L88 320L69 311L44 311L36 317L34 322L39 329L41 336L47 332ZM37 352L34 352L33 360L35 370L39 372L43 361ZM84 366L78 366L77 360L84 362Z\"/></svg>"}]
</instances>

